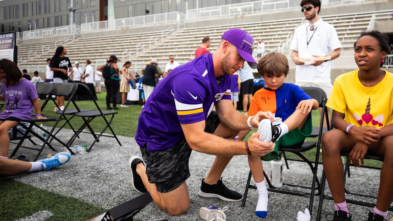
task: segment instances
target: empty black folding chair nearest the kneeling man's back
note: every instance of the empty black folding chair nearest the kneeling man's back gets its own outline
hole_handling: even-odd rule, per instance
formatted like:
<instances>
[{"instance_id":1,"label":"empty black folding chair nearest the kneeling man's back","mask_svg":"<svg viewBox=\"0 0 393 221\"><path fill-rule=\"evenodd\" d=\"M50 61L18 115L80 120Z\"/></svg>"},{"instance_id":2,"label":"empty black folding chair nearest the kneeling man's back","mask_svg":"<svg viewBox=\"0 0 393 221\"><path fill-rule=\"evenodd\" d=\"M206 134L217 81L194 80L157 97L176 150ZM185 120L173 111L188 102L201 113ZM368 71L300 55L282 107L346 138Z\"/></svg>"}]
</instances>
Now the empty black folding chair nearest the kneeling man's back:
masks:
<instances>
[{"instance_id":1,"label":"empty black folding chair nearest the kneeling man's back","mask_svg":"<svg viewBox=\"0 0 393 221\"><path fill-rule=\"evenodd\" d=\"M75 113L75 116L78 116L78 117L82 118L83 124L81 125L81 127L79 127L79 129L76 131L76 133L73 134L73 136L70 138L70 140L68 140L67 144L68 145L72 145L73 142L75 141L75 139L77 138L77 136L80 133L83 132L83 129L85 127L88 127L89 130L90 130L90 133L95 138L95 140L94 140L94 142L92 144L90 144L90 146L88 147L87 151L90 151L92 149L92 147L95 144L95 142L99 142L99 138L101 136L115 138L116 141L118 142L118 144L121 146L121 143L120 143L118 137L114 133L112 127L110 127L110 124L112 123L115 114L117 114L118 112L101 110L99 105L95 101L94 96L93 96L92 92L90 91L90 89L83 83L78 83L78 87L79 87L79 90L78 90L77 93L78 94L80 94L80 93L81 94L88 94L90 96L90 98L92 99L92 102L94 102L95 107L96 107L97 110L87 110L87 111L82 111L82 112ZM107 119L107 116L111 116L109 121ZM106 126L101 130L101 132L99 134L95 133L94 130L90 127L90 122L92 122L92 120L94 120L96 117L103 118L103 120L106 123ZM108 128L111 131L112 135L103 134Z\"/></svg>"}]
</instances>

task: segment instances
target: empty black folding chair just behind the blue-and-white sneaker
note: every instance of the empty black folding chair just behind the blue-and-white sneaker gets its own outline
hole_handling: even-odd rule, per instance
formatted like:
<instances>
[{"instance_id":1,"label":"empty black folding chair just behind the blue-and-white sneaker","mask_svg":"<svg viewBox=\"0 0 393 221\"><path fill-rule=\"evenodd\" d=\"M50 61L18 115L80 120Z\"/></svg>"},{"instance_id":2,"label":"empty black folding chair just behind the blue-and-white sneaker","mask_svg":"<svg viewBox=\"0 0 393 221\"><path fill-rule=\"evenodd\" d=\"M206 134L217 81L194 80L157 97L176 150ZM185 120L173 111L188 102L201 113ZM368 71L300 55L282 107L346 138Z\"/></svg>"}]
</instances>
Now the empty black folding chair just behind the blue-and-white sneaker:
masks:
<instances>
[{"instance_id":1,"label":"empty black folding chair just behind the blue-and-white sneaker","mask_svg":"<svg viewBox=\"0 0 393 221\"><path fill-rule=\"evenodd\" d=\"M62 84L57 84L57 83L39 83L36 85L37 88L37 93L38 94L42 94L45 93L46 91L48 91L48 96L46 97L44 103L41 105L41 111L44 110L44 108L46 107L46 105L48 104L48 102L50 100L53 101L53 103L55 103L55 105L58 107L58 105L56 104L56 101L52 98L51 95L55 95L55 96L73 96L76 92L78 85L75 83L62 83ZM49 89L48 89L49 88ZM72 153L72 150L69 148L69 146L64 143L62 140L60 140L59 138L57 138L56 136L53 135L53 131L55 130L56 125L63 120L63 115L64 115L64 111L67 109L68 105L70 104L70 100L66 103L66 105L64 106L64 110L62 110L62 113L59 116L44 116L47 119L37 119L35 116L32 116L31 120L23 120L22 122L28 122L29 125L24 125L24 123L20 122L19 125L21 125L26 132L23 134L22 138L20 139L19 143L17 144L17 146L15 147L14 151L11 153L11 157L13 157L18 149L20 147L24 147L27 149L33 149L33 150L37 150L38 154L36 155L36 157L34 158L33 161L36 161L42 150L44 149L45 145L48 145L53 151L57 151L55 148L53 148L53 145L49 142L50 138L53 138L55 140L57 140L57 142L59 142L62 146L67 147L67 149ZM41 127L40 124L42 122L55 122L53 127L51 127L50 131L46 130L44 127ZM48 134L47 137L42 137L40 136L36 131L34 131L32 128L36 127L38 129L41 129L44 133ZM43 142L43 144L41 145L40 148L36 148L36 147L29 147L29 146L24 146L22 145L24 140L26 139L26 137L28 136L28 134L32 134L33 136L37 137L39 140L41 140Z\"/></svg>"}]
</instances>

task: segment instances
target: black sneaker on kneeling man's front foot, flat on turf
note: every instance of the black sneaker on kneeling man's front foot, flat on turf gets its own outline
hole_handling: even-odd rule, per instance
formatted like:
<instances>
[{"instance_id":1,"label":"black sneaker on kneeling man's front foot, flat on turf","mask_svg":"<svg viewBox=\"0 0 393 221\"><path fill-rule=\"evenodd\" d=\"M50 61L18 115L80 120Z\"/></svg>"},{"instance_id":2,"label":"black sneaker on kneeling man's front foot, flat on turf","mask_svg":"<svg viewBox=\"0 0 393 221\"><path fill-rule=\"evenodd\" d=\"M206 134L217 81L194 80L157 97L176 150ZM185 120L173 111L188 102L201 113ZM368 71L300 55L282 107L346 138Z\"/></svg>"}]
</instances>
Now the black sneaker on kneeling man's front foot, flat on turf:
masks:
<instances>
[{"instance_id":1,"label":"black sneaker on kneeling man's front foot, flat on turf","mask_svg":"<svg viewBox=\"0 0 393 221\"><path fill-rule=\"evenodd\" d=\"M217 184L213 185L207 184L205 179L202 179L198 195L204 198L219 198L231 202L237 202L243 199L240 193L228 189L228 187L222 183L222 177L217 181Z\"/></svg>"}]
</instances>

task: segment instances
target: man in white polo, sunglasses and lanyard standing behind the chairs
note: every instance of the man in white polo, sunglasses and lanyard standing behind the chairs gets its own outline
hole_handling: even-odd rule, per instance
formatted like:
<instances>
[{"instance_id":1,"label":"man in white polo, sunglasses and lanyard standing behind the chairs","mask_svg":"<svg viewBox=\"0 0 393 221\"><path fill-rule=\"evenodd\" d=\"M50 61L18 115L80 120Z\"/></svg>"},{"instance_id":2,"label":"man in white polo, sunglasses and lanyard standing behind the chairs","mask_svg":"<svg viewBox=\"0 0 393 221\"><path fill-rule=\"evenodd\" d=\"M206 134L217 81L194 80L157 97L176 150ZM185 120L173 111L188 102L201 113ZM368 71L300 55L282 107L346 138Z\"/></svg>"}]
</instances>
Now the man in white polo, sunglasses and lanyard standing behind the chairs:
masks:
<instances>
[{"instance_id":1,"label":"man in white polo, sunglasses and lanyard standing behind the chairs","mask_svg":"<svg viewBox=\"0 0 393 221\"><path fill-rule=\"evenodd\" d=\"M292 60L296 64L295 84L301 87L319 87L329 98L333 88L330 78L331 62L303 62L301 58L331 56L333 60L340 56L342 46L336 29L318 16L320 0L302 0L300 6L307 22L295 29L290 46Z\"/></svg>"}]
</instances>

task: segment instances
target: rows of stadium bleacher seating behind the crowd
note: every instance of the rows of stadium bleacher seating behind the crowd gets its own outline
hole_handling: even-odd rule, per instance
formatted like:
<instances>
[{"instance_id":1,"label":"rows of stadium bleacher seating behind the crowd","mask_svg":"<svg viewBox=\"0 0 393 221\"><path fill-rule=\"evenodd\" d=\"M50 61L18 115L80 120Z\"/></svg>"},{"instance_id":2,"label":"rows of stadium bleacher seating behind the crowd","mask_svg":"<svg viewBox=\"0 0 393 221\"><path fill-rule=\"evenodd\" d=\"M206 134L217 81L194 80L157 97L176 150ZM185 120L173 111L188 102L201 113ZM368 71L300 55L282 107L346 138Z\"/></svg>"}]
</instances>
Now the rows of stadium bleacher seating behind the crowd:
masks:
<instances>
[{"instance_id":1,"label":"rows of stadium bleacher seating behind the crowd","mask_svg":"<svg viewBox=\"0 0 393 221\"><path fill-rule=\"evenodd\" d=\"M332 24L338 33L343 50L352 50L353 43L362 30L369 28L370 20L390 20L393 10L371 11L353 14L325 15L323 20ZM67 56L74 63L81 63L90 59L96 63L104 63L109 55L116 55L123 61L131 60L138 64L138 70L144 67L151 59L157 59L160 66L165 66L168 56L174 55L175 61L183 64L194 57L194 52L202 43L205 36L211 39L209 50L215 51L220 37L224 31L230 28L241 28L248 31L254 38L255 45L259 39L263 39L266 51L279 51L280 47L290 41L296 26L305 22L303 17L272 20L264 22L250 22L232 25L201 26L198 28L183 28L178 30L151 31L144 33L132 33L123 35L111 35L100 37L81 37L75 40L66 40L62 44L68 50ZM116 32L116 31L115 31ZM165 35L165 36L163 36ZM59 36L59 39L61 36ZM154 41L157 40L157 41ZM28 70L45 72L45 60L52 57L55 44L58 42L44 41L39 43L22 43L18 46L18 65ZM290 43L290 42L289 42ZM57 45L58 46L58 45ZM290 54L289 44L286 50ZM119 62L119 63L121 63ZM135 66L135 69L136 66Z\"/></svg>"}]
</instances>

